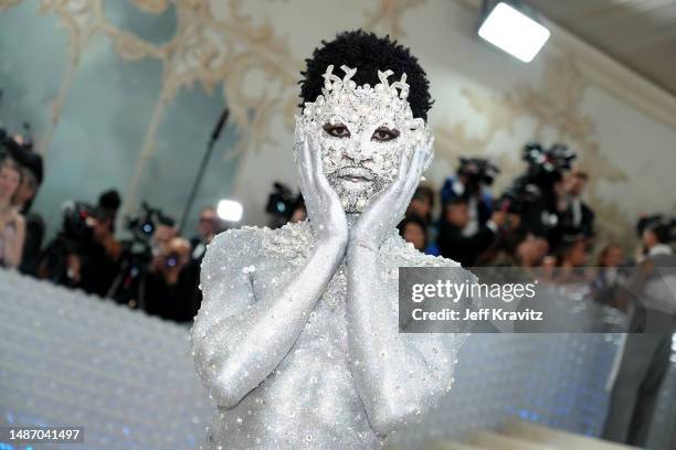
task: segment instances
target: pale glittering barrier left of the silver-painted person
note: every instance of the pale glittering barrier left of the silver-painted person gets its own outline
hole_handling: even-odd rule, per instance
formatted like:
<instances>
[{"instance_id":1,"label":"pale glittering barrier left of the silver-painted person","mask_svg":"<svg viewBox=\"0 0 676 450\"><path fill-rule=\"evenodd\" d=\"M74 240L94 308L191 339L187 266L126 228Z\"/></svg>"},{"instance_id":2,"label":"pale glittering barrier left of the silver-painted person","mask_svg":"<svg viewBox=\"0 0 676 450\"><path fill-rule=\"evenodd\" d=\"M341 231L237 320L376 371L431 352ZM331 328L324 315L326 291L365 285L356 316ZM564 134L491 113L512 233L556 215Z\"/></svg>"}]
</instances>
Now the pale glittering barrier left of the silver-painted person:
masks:
<instances>
[{"instance_id":1,"label":"pale glittering barrier left of the silver-painted person","mask_svg":"<svg viewBox=\"0 0 676 450\"><path fill-rule=\"evenodd\" d=\"M0 271L0 425L84 427L85 444L68 449L202 439L213 408L187 326Z\"/></svg>"}]
</instances>

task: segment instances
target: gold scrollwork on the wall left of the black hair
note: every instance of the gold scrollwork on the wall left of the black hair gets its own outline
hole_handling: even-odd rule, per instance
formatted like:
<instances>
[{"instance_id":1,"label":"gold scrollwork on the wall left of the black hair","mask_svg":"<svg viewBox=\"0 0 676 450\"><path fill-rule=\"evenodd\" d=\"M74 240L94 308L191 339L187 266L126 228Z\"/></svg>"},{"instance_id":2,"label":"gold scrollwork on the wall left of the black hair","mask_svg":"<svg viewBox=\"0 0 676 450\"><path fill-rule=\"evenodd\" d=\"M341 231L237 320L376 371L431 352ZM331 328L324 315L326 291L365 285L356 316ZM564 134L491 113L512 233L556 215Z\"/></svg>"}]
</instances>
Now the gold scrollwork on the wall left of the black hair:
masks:
<instances>
[{"instance_id":1,"label":"gold scrollwork on the wall left of the black hair","mask_svg":"<svg viewBox=\"0 0 676 450\"><path fill-rule=\"evenodd\" d=\"M2 0L8 3L7 0ZM129 0L139 10L165 13L170 6L176 9L177 30L163 44L155 44L118 28L105 15L103 0L42 0L42 13L57 14L68 33L71 62L59 95L53 100L50 127L42 139L41 151L46 153L54 129L59 124L72 79L77 71L82 54L86 52L92 36L96 33L107 35L117 54L126 61L145 58L162 63L161 84L156 107L140 143L139 158L135 174L125 195L128 210L137 204L140 180L147 161L152 158L155 136L165 110L177 93L196 83L207 92L222 87L224 101L231 111L231 121L241 139L229 152L232 158L251 149L275 144L271 131L271 117L283 114L293 118L295 108L295 83L300 67L284 39L276 36L270 23L255 24L241 12L241 2L228 2L226 19L216 19L207 0ZM278 86L275 93L246 89L246 78L253 72L262 72ZM291 120L291 119L289 119ZM293 124L287 120L286 125ZM128 211L127 211L128 212Z\"/></svg>"}]
</instances>

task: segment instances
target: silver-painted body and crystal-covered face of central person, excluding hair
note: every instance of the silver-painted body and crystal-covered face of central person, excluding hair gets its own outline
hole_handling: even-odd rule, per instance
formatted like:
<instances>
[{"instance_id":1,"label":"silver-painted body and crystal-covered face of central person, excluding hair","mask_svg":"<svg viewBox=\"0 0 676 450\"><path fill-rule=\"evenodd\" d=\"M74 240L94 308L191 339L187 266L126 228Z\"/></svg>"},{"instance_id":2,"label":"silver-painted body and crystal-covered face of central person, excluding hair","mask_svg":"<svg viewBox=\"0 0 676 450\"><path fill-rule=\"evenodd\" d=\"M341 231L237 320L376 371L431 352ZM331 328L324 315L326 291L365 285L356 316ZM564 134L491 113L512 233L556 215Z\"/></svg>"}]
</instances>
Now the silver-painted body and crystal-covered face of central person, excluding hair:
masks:
<instances>
[{"instance_id":1,"label":"silver-painted body and crystal-covered face of central person, excluding hair","mask_svg":"<svg viewBox=\"0 0 676 450\"><path fill-rule=\"evenodd\" d=\"M398 318L399 267L458 266L397 232L433 138L405 74L357 86L359 69L328 65L296 118L308 219L232 229L207 250L191 330L218 404L203 448L379 449L451 389L466 334L399 333Z\"/></svg>"}]
</instances>

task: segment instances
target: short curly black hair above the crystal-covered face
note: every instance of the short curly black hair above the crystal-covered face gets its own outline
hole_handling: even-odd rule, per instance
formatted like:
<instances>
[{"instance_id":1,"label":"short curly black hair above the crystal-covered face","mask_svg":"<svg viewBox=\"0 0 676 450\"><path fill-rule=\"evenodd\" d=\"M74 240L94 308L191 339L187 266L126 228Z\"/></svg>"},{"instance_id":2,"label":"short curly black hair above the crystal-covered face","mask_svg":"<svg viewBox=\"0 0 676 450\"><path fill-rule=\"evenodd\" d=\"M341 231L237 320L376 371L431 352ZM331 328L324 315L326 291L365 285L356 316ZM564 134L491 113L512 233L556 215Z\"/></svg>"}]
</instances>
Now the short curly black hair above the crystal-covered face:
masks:
<instances>
[{"instance_id":1,"label":"short curly black hair above the crystal-covered face","mask_svg":"<svg viewBox=\"0 0 676 450\"><path fill-rule=\"evenodd\" d=\"M341 65L357 68L352 81L358 86L380 83L378 71L390 69L394 73L389 79L397 81L403 73L406 74L409 89L409 104L413 117L427 120L427 111L432 107L430 98L430 82L425 71L418 64L418 58L411 55L409 49L390 36L379 38L363 30L346 31L339 33L331 42L321 41L321 46L315 49L313 57L305 60L306 68L300 72L300 98L303 108L306 101L315 101L324 87L324 75L329 65L334 65L334 73L341 76ZM338 69L338 71L336 71Z\"/></svg>"}]
</instances>

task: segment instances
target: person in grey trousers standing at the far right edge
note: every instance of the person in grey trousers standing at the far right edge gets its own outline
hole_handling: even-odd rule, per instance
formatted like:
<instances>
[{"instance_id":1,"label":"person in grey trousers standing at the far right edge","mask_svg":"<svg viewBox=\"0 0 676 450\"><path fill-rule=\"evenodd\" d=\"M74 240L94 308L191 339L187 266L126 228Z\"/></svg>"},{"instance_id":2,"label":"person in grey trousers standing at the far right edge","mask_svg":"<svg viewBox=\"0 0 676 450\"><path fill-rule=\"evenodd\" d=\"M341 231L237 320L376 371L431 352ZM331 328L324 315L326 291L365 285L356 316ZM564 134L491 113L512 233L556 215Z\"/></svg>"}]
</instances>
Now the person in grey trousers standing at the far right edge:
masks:
<instances>
[{"instance_id":1,"label":"person in grey trousers standing at the far right edge","mask_svg":"<svg viewBox=\"0 0 676 450\"><path fill-rule=\"evenodd\" d=\"M676 331L676 219L644 217L638 222L645 254L632 275L631 331L613 386L603 437L645 447L659 392L669 367Z\"/></svg>"}]
</instances>

